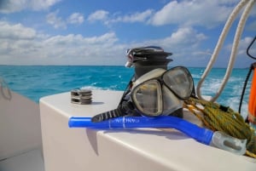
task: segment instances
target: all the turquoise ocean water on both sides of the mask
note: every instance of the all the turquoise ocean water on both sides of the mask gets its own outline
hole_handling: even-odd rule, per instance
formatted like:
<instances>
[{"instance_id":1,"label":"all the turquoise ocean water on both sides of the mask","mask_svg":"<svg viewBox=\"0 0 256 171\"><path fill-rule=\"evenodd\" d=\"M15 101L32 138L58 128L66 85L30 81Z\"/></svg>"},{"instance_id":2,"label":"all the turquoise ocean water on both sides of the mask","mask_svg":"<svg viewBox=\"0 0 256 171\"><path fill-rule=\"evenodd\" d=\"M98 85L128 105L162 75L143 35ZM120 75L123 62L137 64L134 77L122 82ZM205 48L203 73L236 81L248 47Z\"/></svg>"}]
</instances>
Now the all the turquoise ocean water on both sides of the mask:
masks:
<instances>
[{"instance_id":1,"label":"all the turquoise ocean water on both sides of the mask","mask_svg":"<svg viewBox=\"0 0 256 171\"><path fill-rule=\"evenodd\" d=\"M189 68L197 85L204 68ZM241 90L248 69L234 69L218 103L238 110ZM59 94L73 88L125 90L134 73L125 66L0 66L2 77L13 91L38 103L41 97ZM201 88L201 93L214 95L224 77L225 69L214 68ZM250 85L250 81L248 85ZM242 105L247 113L249 86Z\"/></svg>"}]
</instances>

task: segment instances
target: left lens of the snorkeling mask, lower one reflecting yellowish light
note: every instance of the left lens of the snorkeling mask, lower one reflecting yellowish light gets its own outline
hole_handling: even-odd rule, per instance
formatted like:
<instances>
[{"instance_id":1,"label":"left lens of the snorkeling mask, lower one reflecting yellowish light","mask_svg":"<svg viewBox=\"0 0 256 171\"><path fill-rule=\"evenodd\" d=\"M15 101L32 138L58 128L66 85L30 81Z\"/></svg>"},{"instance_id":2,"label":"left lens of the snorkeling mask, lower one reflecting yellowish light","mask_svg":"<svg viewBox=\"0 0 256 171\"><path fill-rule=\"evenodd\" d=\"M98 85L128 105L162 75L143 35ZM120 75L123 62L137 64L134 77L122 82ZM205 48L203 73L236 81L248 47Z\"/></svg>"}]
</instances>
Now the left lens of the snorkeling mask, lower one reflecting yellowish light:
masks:
<instances>
[{"instance_id":1,"label":"left lens of the snorkeling mask, lower one reflecting yellowish light","mask_svg":"<svg viewBox=\"0 0 256 171\"><path fill-rule=\"evenodd\" d=\"M149 80L139 84L132 92L132 101L137 110L143 114L154 117L162 113L162 94L160 83L156 80Z\"/></svg>"}]
</instances>

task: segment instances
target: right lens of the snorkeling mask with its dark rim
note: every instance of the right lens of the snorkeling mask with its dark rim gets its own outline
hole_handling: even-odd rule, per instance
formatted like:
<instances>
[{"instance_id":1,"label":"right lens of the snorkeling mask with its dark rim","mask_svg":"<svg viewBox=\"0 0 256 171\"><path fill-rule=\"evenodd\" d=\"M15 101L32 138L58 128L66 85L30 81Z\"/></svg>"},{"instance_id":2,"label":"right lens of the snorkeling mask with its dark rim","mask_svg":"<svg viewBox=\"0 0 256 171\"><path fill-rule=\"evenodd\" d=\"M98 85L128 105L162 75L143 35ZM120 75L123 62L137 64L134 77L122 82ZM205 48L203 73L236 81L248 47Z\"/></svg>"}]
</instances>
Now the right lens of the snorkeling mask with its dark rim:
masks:
<instances>
[{"instance_id":1,"label":"right lens of the snorkeling mask with its dark rim","mask_svg":"<svg viewBox=\"0 0 256 171\"><path fill-rule=\"evenodd\" d=\"M187 99L193 91L193 79L189 71L181 66L172 68L163 76L164 83L181 99Z\"/></svg>"}]
</instances>

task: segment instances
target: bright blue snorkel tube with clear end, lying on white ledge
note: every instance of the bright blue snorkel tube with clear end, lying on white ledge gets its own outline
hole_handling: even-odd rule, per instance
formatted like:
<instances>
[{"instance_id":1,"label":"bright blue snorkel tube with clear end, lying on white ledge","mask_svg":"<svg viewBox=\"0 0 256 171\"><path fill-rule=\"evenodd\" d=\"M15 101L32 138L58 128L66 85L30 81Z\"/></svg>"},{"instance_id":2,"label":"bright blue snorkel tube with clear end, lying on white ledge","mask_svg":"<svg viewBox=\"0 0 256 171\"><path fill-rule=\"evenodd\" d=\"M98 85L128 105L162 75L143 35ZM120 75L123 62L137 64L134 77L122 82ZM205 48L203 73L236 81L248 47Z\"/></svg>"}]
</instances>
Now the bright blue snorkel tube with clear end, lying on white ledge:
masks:
<instances>
[{"instance_id":1,"label":"bright blue snorkel tube with clear end, lying on white ledge","mask_svg":"<svg viewBox=\"0 0 256 171\"><path fill-rule=\"evenodd\" d=\"M219 131L213 132L210 129L201 128L179 117L116 117L99 123L91 122L91 117L70 117L68 126L69 128L94 129L175 128L202 144L212 145L238 155L246 152L247 140L239 140Z\"/></svg>"}]
</instances>

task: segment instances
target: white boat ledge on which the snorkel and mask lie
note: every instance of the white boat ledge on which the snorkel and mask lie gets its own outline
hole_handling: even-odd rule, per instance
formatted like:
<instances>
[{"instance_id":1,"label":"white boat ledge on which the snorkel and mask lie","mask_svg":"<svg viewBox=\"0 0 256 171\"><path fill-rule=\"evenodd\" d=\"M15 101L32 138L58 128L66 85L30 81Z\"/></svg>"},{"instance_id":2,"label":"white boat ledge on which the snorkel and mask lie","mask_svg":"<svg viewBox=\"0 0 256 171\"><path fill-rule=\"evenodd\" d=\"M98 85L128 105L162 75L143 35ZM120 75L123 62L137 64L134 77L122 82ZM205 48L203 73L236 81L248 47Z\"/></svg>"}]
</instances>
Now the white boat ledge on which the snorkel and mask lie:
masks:
<instances>
[{"instance_id":1,"label":"white boat ledge on which the snorkel and mask lie","mask_svg":"<svg viewBox=\"0 0 256 171\"><path fill-rule=\"evenodd\" d=\"M70 93L40 100L45 171L255 170L255 160L203 145L168 129L68 128L70 117L92 117L114 109L122 92L94 90L90 105L70 102ZM184 113L184 118L193 120Z\"/></svg>"}]
</instances>

